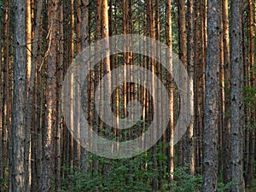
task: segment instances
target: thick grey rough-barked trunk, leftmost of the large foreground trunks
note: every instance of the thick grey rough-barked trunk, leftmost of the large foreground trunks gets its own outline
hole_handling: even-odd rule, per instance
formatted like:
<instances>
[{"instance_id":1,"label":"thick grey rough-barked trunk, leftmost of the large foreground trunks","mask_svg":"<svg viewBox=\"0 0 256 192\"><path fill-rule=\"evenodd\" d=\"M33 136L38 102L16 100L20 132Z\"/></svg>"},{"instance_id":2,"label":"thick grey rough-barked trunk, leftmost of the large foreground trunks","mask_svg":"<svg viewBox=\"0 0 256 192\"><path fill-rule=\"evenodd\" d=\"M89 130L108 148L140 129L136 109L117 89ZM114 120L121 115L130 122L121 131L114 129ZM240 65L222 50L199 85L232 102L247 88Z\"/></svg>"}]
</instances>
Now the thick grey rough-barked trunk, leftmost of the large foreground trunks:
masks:
<instances>
[{"instance_id":1,"label":"thick grey rough-barked trunk, leftmost of the large foreground trunks","mask_svg":"<svg viewBox=\"0 0 256 192\"><path fill-rule=\"evenodd\" d=\"M12 191L26 191L26 1L15 1L15 84L12 124Z\"/></svg>"}]
</instances>

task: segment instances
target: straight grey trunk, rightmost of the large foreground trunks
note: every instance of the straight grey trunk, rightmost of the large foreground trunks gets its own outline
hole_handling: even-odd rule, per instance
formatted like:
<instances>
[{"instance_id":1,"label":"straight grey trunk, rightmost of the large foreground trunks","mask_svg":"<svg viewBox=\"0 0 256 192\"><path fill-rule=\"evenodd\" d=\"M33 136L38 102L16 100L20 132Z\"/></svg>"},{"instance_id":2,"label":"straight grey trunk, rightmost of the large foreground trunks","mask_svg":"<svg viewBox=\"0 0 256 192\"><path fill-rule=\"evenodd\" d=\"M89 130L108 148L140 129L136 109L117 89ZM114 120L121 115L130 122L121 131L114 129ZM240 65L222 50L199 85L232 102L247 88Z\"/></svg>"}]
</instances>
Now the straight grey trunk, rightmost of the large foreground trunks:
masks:
<instances>
[{"instance_id":1,"label":"straight grey trunk, rightmost of the large foreground trunks","mask_svg":"<svg viewBox=\"0 0 256 192\"><path fill-rule=\"evenodd\" d=\"M231 178L232 192L244 191L243 179L243 55L242 1L231 2Z\"/></svg>"}]
</instances>

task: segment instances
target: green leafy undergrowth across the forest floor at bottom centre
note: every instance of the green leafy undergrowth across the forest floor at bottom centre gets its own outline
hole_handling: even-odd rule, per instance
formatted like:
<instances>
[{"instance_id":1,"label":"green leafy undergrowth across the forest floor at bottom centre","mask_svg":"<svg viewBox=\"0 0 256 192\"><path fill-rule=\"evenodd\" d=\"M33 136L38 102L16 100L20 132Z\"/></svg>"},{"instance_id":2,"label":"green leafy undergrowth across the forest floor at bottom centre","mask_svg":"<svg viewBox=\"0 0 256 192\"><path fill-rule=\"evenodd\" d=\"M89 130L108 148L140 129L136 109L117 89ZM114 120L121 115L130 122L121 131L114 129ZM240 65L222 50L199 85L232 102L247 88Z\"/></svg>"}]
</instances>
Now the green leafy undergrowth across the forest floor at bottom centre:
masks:
<instances>
[{"instance_id":1,"label":"green leafy undergrowth across the forest floor at bottom centre","mask_svg":"<svg viewBox=\"0 0 256 192\"><path fill-rule=\"evenodd\" d=\"M104 165L110 165L107 173L102 172L81 172L77 167L63 167L67 177L62 179L61 192L83 192L83 191L152 191L151 182L155 177L160 183L159 191L172 192L198 192L201 191L202 176L192 175L189 166L175 167L174 181L169 182L167 170L167 156L162 153L163 148L168 148L167 143L158 143L155 150L155 158L158 162L157 169L153 170L152 151L137 155L131 159L108 160L91 154L91 158L99 161L99 170ZM91 162L90 162L91 163ZM218 192L224 192L230 188L231 183L225 185L218 183Z\"/></svg>"}]
</instances>

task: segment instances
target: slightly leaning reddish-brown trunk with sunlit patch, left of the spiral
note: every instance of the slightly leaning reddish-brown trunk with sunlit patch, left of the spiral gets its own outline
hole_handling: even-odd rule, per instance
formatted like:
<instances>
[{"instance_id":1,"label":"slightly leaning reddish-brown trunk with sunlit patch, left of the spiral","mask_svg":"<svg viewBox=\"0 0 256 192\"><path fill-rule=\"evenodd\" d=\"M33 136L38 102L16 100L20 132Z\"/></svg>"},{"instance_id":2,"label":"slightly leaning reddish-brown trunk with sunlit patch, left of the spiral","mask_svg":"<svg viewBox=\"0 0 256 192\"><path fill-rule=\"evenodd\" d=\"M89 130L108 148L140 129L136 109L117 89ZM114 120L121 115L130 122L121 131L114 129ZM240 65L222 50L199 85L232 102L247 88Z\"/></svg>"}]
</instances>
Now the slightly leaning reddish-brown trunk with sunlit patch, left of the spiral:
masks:
<instances>
[{"instance_id":1,"label":"slightly leaning reddish-brown trunk with sunlit patch, left of the spiral","mask_svg":"<svg viewBox=\"0 0 256 192\"><path fill-rule=\"evenodd\" d=\"M49 55L46 79L46 104L44 116L44 152L43 152L43 186L42 191L53 189L54 178L54 132L56 130L56 62L57 62L57 35L58 35L58 9L59 2L52 0L49 2Z\"/></svg>"}]
</instances>

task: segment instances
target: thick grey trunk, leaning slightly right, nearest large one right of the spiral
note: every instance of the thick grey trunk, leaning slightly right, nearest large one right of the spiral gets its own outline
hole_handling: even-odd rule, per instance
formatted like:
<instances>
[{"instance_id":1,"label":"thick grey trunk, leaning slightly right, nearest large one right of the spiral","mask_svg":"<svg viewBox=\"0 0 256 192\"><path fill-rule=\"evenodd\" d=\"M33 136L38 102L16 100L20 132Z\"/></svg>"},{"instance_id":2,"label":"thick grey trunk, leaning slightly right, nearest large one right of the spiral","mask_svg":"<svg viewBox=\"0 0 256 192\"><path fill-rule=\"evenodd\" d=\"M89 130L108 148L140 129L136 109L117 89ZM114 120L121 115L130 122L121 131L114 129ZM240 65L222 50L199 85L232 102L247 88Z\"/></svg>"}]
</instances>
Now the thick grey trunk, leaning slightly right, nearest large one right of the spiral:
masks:
<instances>
[{"instance_id":1,"label":"thick grey trunk, leaning slightly right, nearest large one right of the spiral","mask_svg":"<svg viewBox=\"0 0 256 192\"><path fill-rule=\"evenodd\" d=\"M220 2L208 0L206 106L203 129L203 192L217 191Z\"/></svg>"}]
</instances>

